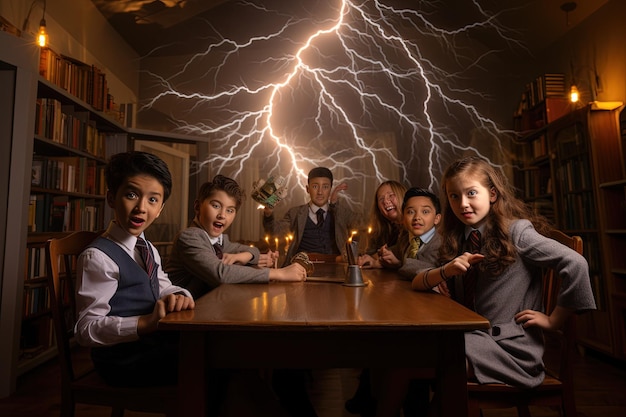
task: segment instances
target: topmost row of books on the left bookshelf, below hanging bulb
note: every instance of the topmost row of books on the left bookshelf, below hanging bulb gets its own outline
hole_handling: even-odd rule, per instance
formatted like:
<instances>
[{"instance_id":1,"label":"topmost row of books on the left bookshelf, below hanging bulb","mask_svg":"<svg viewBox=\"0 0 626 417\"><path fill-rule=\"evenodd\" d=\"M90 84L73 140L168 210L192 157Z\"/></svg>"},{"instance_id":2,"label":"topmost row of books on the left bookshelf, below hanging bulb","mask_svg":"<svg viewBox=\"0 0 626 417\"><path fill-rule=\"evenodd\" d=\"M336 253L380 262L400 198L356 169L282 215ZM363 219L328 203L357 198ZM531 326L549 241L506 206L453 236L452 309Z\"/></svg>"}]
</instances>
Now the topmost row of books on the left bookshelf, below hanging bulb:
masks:
<instances>
[{"instance_id":1,"label":"topmost row of books on the left bookshelf, below hanging bulb","mask_svg":"<svg viewBox=\"0 0 626 417\"><path fill-rule=\"evenodd\" d=\"M106 74L95 65L59 55L50 48L42 48L39 75L96 110L106 111L111 107Z\"/></svg>"}]
</instances>

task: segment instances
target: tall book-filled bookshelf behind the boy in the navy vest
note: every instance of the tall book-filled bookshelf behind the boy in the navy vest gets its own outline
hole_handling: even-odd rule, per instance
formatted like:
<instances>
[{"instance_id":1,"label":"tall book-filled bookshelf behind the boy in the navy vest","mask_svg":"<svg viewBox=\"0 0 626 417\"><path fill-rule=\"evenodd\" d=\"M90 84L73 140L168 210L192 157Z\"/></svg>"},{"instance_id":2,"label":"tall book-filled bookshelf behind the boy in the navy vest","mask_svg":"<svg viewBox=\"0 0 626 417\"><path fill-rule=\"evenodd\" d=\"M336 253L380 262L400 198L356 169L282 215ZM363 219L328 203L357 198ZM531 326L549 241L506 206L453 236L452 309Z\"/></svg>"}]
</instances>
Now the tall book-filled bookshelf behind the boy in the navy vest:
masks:
<instances>
[{"instance_id":1,"label":"tall book-filled bookshelf behind the boy in the navy vest","mask_svg":"<svg viewBox=\"0 0 626 417\"><path fill-rule=\"evenodd\" d=\"M107 143L127 140L97 68L44 49L36 82L18 374L56 354L45 243L105 227Z\"/></svg>"}]
</instances>

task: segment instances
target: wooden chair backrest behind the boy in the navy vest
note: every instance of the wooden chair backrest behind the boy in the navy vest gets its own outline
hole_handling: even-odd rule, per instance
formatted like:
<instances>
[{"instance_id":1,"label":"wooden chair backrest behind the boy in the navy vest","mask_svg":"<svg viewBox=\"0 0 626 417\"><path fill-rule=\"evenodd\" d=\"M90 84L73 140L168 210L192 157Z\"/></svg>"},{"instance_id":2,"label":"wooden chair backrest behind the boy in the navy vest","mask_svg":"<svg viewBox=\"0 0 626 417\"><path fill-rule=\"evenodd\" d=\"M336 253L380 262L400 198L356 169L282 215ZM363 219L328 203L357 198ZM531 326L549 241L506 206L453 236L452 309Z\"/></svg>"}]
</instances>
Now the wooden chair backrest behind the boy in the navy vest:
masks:
<instances>
[{"instance_id":1,"label":"wooden chair backrest behind the boy in the navy vest","mask_svg":"<svg viewBox=\"0 0 626 417\"><path fill-rule=\"evenodd\" d=\"M76 323L76 259L98 235L97 232L74 232L46 243L50 308L64 386L78 376L70 350Z\"/></svg>"}]
</instances>

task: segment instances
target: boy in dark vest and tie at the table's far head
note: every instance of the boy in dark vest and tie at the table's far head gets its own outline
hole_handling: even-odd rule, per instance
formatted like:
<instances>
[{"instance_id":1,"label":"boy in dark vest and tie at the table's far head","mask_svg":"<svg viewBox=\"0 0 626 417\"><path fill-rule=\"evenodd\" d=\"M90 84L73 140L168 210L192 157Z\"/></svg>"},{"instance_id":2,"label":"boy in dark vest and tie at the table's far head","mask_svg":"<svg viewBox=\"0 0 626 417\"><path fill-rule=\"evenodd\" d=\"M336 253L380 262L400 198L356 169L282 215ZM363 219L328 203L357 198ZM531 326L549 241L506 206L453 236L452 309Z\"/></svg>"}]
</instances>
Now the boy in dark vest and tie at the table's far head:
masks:
<instances>
[{"instance_id":1,"label":"boy in dark vest and tie at the table's far head","mask_svg":"<svg viewBox=\"0 0 626 417\"><path fill-rule=\"evenodd\" d=\"M351 230L359 229L361 216L330 201L332 186L332 172L328 168L316 167L309 171L306 190L311 201L308 204L290 208L281 220L274 218L273 209L265 208L263 227L267 233L293 235L285 264L289 264L298 252L340 256L345 252Z\"/></svg>"}]
</instances>

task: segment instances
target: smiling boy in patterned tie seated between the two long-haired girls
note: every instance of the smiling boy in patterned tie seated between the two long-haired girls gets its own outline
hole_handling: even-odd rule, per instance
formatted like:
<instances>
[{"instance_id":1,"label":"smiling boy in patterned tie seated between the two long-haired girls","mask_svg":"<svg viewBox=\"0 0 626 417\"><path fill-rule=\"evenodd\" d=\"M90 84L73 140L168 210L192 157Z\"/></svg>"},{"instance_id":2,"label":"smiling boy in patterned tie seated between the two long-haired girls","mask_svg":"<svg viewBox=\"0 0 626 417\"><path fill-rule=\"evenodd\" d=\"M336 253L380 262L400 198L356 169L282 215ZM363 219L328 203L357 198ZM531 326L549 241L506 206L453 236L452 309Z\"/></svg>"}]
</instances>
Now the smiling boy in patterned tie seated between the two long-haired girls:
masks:
<instances>
[{"instance_id":1,"label":"smiling boy in patterned tie seated between the two long-haired girls","mask_svg":"<svg viewBox=\"0 0 626 417\"><path fill-rule=\"evenodd\" d=\"M436 265L441 236L436 226L441 221L439 197L423 188L409 188L402 203L404 227L409 232L409 244L399 269L407 279L413 279L422 269Z\"/></svg>"}]
</instances>

